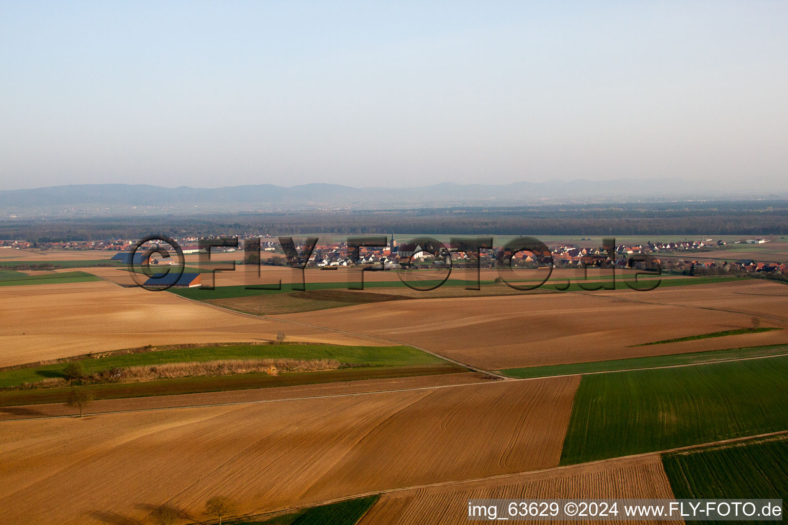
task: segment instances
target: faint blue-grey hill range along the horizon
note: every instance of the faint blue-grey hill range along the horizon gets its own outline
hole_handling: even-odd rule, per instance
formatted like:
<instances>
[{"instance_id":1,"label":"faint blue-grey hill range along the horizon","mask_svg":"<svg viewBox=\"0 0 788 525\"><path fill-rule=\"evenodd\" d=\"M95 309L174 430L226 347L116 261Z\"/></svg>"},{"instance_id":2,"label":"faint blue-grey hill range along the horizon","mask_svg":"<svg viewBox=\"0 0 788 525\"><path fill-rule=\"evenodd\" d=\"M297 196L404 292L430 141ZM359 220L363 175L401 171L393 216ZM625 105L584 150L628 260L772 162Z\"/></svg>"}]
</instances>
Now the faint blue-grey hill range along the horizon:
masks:
<instances>
[{"instance_id":1,"label":"faint blue-grey hill range along the horizon","mask_svg":"<svg viewBox=\"0 0 788 525\"><path fill-rule=\"evenodd\" d=\"M258 184L219 188L160 187L145 184L78 184L29 190L0 190L0 209L83 209L98 211L147 207L166 210L238 211L349 207L392 209L451 205L539 205L623 201L687 201L698 199L785 198L786 192L731 190L726 185L681 179L618 179L569 182L456 184L424 187L349 187L303 184L292 187ZM76 211L76 210L72 210Z\"/></svg>"}]
</instances>

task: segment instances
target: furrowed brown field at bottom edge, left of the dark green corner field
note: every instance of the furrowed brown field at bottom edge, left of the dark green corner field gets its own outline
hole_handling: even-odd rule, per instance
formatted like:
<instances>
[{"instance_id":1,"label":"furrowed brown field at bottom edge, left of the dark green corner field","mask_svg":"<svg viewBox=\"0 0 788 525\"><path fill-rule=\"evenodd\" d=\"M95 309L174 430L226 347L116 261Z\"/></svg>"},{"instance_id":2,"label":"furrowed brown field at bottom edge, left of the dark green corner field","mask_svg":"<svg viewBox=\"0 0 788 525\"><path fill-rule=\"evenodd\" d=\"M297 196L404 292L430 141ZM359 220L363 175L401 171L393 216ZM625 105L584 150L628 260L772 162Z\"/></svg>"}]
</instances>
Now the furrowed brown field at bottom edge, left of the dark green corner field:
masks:
<instances>
[{"instance_id":1,"label":"furrowed brown field at bottom edge, left of the dark green corner field","mask_svg":"<svg viewBox=\"0 0 788 525\"><path fill-rule=\"evenodd\" d=\"M668 499L673 497L673 493L660 456L654 454L498 479L396 491L384 494L359 525L460 525L468 523L467 502L471 498L523 497Z\"/></svg>"}]
</instances>

